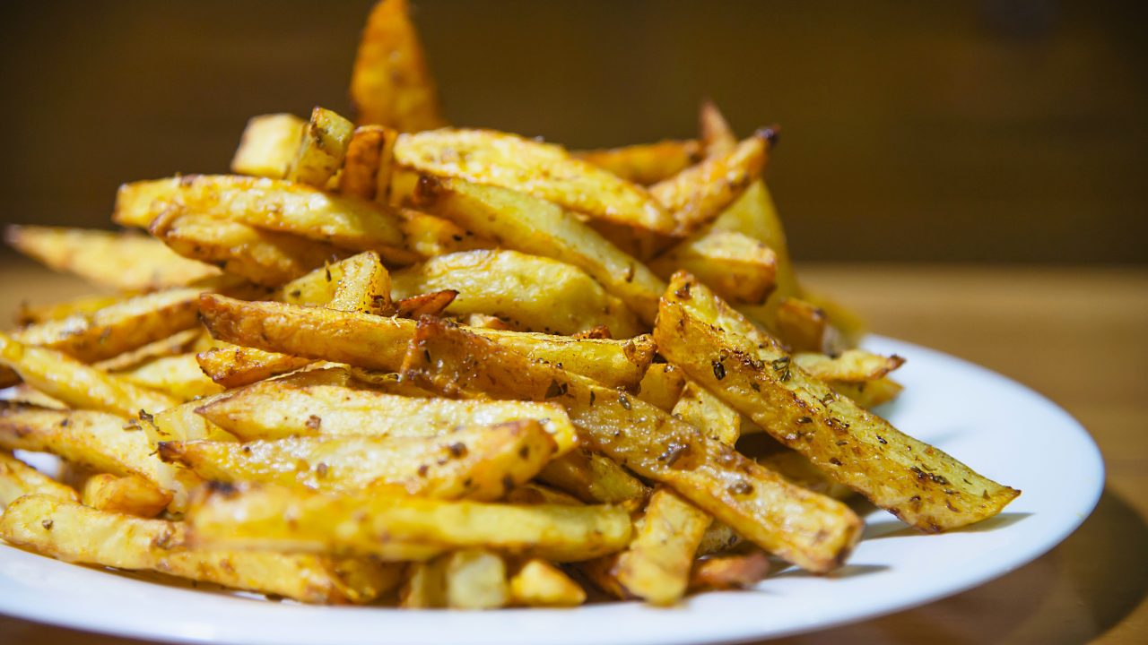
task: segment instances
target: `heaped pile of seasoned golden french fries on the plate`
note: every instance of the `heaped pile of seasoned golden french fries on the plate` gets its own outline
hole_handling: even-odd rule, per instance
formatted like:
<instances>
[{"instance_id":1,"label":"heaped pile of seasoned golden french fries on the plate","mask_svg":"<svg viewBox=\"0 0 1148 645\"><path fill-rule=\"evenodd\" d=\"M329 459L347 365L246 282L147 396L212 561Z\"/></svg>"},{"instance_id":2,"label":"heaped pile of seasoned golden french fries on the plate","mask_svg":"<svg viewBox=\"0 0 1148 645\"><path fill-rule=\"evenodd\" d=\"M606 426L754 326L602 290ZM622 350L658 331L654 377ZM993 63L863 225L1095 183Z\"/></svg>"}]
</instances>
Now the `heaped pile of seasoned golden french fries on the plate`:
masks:
<instances>
[{"instance_id":1,"label":"heaped pile of seasoned golden french fries on the plate","mask_svg":"<svg viewBox=\"0 0 1148 645\"><path fill-rule=\"evenodd\" d=\"M8 228L114 292L0 334L8 544L305 603L672 605L832 572L853 494L925 533L1019 495L867 411L903 360L797 282L776 129L449 127L405 0L351 96L253 118L234 174L125 184L150 236Z\"/></svg>"}]
</instances>

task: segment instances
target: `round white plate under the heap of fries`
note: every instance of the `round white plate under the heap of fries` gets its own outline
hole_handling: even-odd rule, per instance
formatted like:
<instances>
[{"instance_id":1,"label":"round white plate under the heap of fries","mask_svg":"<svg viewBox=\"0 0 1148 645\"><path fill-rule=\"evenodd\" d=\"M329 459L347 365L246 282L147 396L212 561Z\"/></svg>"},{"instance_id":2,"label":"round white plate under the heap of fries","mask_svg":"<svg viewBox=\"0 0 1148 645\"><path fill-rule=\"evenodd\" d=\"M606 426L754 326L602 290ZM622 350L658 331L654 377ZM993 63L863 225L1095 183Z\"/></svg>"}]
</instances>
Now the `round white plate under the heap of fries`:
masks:
<instances>
[{"instance_id":1,"label":"round white plate under the heap of fries","mask_svg":"<svg viewBox=\"0 0 1148 645\"><path fill-rule=\"evenodd\" d=\"M881 412L897 427L1024 492L965 530L921 535L883 511L837 575L790 569L755 590L673 608L610 603L576 609L403 612L312 607L194 591L78 567L0 545L0 612L156 640L251 644L518 643L673 645L778 637L922 605L1001 576L1064 539L1100 497L1104 467L1064 411L999 374L909 343L906 389Z\"/></svg>"}]
</instances>

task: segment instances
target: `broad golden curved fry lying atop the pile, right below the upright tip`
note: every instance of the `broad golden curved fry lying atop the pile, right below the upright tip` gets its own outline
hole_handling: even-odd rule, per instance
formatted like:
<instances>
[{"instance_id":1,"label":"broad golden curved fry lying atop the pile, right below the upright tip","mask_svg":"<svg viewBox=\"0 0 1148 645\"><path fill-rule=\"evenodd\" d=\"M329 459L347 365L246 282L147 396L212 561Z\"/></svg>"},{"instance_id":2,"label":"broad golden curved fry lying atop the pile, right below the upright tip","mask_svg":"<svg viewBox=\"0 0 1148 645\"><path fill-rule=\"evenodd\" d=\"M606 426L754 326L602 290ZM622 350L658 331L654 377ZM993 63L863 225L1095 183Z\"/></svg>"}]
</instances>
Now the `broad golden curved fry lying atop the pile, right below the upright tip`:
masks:
<instances>
[{"instance_id":1,"label":"broad golden curved fry lying atop the pile, right below the upright tip","mask_svg":"<svg viewBox=\"0 0 1148 645\"><path fill-rule=\"evenodd\" d=\"M395 163L439 177L510 188L595 219L660 233L674 218L636 184L572 157L565 148L494 130L402 134Z\"/></svg>"}]
</instances>

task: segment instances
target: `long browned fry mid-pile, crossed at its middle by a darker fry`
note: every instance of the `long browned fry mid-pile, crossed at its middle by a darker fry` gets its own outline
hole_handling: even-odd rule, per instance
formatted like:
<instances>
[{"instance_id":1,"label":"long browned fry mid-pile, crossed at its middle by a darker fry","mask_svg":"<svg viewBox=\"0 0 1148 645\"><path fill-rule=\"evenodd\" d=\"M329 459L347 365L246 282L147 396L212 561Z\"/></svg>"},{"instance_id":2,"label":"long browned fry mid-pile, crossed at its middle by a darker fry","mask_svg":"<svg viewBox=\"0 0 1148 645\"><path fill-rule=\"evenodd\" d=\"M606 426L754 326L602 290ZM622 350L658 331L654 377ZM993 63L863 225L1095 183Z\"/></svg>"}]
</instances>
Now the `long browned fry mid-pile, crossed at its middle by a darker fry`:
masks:
<instances>
[{"instance_id":1,"label":"long browned fry mid-pile, crossed at its middle by a darker fry","mask_svg":"<svg viewBox=\"0 0 1148 645\"><path fill-rule=\"evenodd\" d=\"M243 302L205 295L200 314L211 334L230 343L396 372L417 324L402 318ZM566 336L474 329L509 350L564 365L610 387L633 388L653 360L649 336L625 341L575 340Z\"/></svg>"}]
</instances>

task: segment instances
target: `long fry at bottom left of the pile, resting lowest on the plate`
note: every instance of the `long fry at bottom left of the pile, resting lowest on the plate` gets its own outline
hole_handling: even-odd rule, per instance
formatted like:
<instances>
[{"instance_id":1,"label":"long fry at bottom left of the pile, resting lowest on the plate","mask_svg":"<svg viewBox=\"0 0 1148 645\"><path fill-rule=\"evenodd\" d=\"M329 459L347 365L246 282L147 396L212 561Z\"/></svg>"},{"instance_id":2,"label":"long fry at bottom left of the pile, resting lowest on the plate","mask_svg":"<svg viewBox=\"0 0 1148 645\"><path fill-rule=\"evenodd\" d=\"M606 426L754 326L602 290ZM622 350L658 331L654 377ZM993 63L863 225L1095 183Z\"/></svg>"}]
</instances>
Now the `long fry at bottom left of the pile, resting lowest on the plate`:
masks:
<instances>
[{"instance_id":1,"label":"long fry at bottom left of the pile, resting lowest on the plate","mask_svg":"<svg viewBox=\"0 0 1148 645\"><path fill-rule=\"evenodd\" d=\"M148 569L304 603L367 603L398 584L398 567L321 555L189 551L181 523L29 496L0 518L0 537L84 565Z\"/></svg>"}]
</instances>

